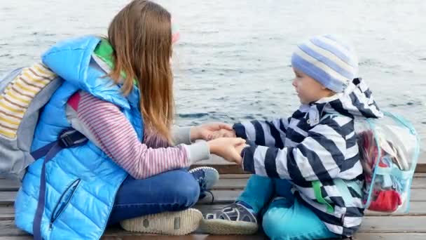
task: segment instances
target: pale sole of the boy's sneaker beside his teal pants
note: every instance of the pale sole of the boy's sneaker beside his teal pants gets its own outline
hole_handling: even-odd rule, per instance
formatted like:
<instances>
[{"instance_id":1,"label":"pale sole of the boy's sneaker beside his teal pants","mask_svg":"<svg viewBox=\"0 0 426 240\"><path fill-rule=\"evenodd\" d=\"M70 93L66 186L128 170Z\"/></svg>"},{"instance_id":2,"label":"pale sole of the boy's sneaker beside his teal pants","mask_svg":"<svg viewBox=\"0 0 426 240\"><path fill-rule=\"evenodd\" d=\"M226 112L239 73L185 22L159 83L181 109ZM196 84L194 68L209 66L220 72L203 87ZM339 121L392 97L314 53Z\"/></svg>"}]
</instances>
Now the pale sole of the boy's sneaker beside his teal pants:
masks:
<instances>
[{"instance_id":1,"label":"pale sole of the boy's sneaker beside his teal pants","mask_svg":"<svg viewBox=\"0 0 426 240\"><path fill-rule=\"evenodd\" d=\"M254 222L229 221L222 219L201 220L200 230L203 233L219 235L249 235L257 232Z\"/></svg>"}]
</instances>

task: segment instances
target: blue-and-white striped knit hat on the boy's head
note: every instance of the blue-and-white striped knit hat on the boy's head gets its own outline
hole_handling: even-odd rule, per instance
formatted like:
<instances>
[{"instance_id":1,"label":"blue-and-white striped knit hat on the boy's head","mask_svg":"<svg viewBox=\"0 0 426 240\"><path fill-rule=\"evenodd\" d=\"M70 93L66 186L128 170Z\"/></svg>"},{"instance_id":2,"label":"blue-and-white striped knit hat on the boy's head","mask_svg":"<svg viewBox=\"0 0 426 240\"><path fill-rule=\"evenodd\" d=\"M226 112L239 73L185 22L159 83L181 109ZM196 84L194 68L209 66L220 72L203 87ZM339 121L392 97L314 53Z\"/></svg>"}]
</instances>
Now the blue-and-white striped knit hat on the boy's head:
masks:
<instances>
[{"instance_id":1,"label":"blue-and-white striped knit hat on the boy's head","mask_svg":"<svg viewBox=\"0 0 426 240\"><path fill-rule=\"evenodd\" d=\"M333 35L314 36L298 44L291 65L336 93L343 92L358 74L354 48Z\"/></svg>"}]
</instances>

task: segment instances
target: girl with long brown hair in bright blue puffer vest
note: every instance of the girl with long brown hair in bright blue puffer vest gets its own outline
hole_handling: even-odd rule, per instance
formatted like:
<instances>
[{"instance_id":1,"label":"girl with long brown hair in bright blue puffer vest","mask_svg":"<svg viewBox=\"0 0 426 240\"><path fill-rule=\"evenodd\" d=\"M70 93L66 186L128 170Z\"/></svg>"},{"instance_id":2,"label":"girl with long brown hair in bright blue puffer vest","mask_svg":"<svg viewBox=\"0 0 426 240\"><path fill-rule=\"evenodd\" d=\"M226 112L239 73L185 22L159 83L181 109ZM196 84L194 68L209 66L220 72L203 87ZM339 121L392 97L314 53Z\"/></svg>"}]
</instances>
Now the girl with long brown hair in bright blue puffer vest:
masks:
<instances>
[{"instance_id":1,"label":"girl with long brown hair in bright blue puffer vest","mask_svg":"<svg viewBox=\"0 0 426 240\"><path fill-rule=\"evenodd\" d=\"M217 173L184 169L210 153L236 161L234 146L245 141L204 141L231 129L226 124L172 131L176 36L170 13L135 0L112 20L106 39L69 39L43 54L38 74L53 71L63 83L41 112L32 151L70 127L88 141L28 167L15 201L18 227L35 239L99 239L108 222L123 220L125 229L149 233L198 227L201 213L190 207Z\"/></svg>"}]
</instances>

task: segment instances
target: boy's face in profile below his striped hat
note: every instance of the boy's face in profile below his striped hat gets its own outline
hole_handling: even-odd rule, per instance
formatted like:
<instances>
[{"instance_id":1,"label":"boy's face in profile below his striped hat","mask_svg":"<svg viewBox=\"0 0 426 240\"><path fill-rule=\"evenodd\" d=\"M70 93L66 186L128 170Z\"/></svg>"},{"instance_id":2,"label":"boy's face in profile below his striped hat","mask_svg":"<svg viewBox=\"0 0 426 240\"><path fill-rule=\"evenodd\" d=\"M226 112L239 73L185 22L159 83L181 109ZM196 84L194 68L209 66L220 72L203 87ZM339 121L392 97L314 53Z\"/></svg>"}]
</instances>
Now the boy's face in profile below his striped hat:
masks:
<instances>
[{"instance_id":1,"label":"boy's face in profile below his striped hat","mask_svg":"<svg viewBox=\"0 0 426 240\"><path fill-rule=\"evenodd\" d=\"M321 98L333 95L334 92L324 87L319 81L312 79L298 69L293 68L293 71L295 74L293 86L302 104L316 102Z\"/></svg>"}]
</instances>

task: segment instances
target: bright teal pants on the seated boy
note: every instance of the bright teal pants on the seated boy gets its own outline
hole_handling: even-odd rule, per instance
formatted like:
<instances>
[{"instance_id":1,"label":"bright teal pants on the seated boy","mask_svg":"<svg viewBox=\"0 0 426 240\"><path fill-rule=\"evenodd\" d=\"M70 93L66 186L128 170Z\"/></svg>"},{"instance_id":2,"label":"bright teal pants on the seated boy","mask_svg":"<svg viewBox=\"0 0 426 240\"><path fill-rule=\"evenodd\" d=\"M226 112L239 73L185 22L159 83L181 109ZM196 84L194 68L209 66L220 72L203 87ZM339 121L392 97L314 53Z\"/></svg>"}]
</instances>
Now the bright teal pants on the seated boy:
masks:
<instances>
[{"instance_id":1,"label":"bright teal pants on the seated boy","mask_svg":"<svg viewBox=\"0 0 426 240\"><path fill-rule=\"evenodd\" d=\"M263 214L263 231L272 240L340 238L294 197L288 180L252 175L237 201Z\"/></svg>"}]
</instances>

